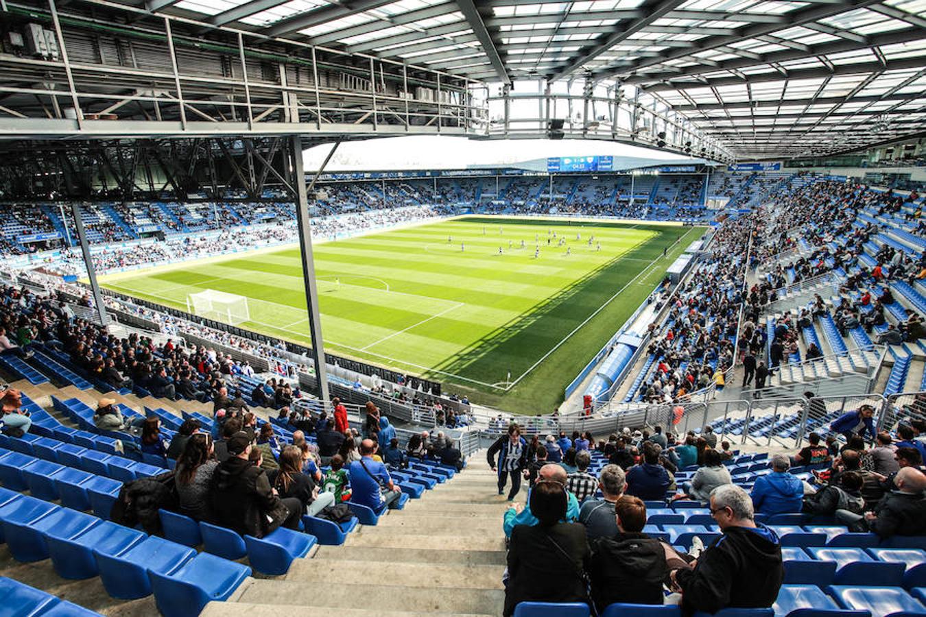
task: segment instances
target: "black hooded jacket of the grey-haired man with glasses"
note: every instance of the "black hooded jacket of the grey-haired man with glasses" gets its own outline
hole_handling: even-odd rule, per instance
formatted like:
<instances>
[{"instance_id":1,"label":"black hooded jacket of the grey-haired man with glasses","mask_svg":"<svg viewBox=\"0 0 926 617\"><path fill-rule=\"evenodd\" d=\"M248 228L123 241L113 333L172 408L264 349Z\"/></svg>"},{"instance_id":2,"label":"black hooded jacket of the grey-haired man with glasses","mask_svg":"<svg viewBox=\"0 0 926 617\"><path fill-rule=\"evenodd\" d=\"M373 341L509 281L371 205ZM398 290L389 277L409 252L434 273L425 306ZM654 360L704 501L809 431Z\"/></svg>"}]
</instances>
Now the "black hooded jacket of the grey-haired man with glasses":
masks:
<instances>
[{"instance_id":1,"label":"black hooded jacket of the grey-haired man with glasses","mask_svg":"<svg viewBox=\"0 0 926 617\"><path fill-rule=\"evenodd\" d=\"M717 612L726 607L770 607L784 579L782 545L768 527L727 527L698 558L679 570L682 610Z\"/></svg>"}]
</instances>

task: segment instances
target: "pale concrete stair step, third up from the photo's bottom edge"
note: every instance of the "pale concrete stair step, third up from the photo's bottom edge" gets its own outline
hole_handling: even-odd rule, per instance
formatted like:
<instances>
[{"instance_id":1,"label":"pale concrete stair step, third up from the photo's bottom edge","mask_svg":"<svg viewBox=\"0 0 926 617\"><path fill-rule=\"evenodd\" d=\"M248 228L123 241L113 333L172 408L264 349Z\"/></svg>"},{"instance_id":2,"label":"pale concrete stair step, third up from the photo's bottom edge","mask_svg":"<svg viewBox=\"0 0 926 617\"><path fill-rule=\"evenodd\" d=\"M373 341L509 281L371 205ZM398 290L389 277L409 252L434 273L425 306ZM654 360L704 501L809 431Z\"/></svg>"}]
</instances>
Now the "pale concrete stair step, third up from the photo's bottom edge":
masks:
<instances>
[{"instance_id":1,"label":"pale concrete stair step, third up from the photo's bottom edge","mask_svg":"<svg viewBox=\"0 0 926 617\"><path fill-rule=\"evenodd\" d=\"M441 589L503 589L498 566L403 563L383 567L377 561L293 561L287 581L370 581L382 586Z\"/></svg>"}]
</instances>

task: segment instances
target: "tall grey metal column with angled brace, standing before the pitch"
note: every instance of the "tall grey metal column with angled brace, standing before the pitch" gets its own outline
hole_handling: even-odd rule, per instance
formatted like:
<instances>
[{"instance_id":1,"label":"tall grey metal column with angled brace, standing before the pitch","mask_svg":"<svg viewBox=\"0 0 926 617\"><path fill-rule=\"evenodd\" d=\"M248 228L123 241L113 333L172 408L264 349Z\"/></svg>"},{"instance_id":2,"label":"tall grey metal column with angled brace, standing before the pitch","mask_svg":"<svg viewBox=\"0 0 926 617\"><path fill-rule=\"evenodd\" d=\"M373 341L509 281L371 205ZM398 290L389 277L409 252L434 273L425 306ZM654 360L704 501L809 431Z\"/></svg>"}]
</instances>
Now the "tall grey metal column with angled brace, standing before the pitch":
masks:
<instances>
[{"instance_id":1,"label":"tall grey metal column with angled brace, standing before the pitch","mask_svg":"<svg viewBox=\"0 0 926 617\"><path fill-rule=\"evenodd\" d=\"M293 189L295 191L295 215L299 223L299 248L302 253L302 277L306 284L306 305L308 327L312 334L312 362L315 364L315 376L319 382L318 395L325 408L328 407L328 365L325 364L325 344L321 338L321 314L319 313L319 289L315 281L315 260L312 257L312 226L308 216L308 191L315 186L321 170L332 159L334 151L341 142L334 142L318 173L306 187L306 170L302 163L302 138L293 135L290 138L290 168L293 171Z\"/></svg>"}]
</instances>

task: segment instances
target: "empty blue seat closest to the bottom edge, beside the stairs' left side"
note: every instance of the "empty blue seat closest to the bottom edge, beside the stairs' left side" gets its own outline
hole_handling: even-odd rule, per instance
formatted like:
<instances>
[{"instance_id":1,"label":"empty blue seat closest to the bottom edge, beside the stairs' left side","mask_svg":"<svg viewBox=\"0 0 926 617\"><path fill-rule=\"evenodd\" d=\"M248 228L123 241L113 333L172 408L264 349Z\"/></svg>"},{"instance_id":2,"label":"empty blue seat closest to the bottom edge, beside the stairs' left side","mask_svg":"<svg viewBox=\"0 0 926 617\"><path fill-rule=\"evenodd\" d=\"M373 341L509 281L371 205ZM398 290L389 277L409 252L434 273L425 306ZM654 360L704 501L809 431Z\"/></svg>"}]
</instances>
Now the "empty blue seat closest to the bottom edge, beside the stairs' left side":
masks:
<instances>
[{"instance_id":1,"label":"empty blue seat closest to the bottom edge, beside the stairs' left side","mask_svg":"<svg viewBox=\"0 0 926 617\"><path fill-rule=\"evenodd\" d=\"M164 617L198 615L211 601L228 599L251 569L209 553L200 553L169 574L149 571L157 609Z\"/></svg>"}]
</instances>

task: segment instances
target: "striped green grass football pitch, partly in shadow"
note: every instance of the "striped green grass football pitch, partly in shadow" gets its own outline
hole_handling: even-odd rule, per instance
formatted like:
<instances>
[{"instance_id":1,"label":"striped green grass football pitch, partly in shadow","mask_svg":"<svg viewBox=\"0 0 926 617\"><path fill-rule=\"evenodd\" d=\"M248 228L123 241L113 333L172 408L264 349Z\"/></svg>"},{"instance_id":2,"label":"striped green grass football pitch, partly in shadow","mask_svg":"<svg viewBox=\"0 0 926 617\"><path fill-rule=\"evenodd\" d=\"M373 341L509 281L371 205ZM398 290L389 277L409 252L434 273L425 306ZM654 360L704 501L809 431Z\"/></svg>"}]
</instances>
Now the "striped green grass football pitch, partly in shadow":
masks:
<instances>
[{"instance_id":1,"label":"striped green grass football pitch, partly in shadow","mask_svg":"<svg viewBox=\"0 0 926 617\"><path fill-rule=\"evenodd\" d=\"M326 349L508 411L549 413L702 230L468 217L322 243L315 265ZM196 291L243 295L252 321L241 327L310 342L297 248L102 282L184 310Z\"/></svg>"}]
</instances>

